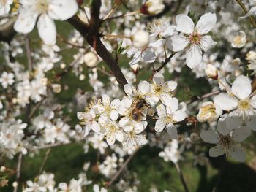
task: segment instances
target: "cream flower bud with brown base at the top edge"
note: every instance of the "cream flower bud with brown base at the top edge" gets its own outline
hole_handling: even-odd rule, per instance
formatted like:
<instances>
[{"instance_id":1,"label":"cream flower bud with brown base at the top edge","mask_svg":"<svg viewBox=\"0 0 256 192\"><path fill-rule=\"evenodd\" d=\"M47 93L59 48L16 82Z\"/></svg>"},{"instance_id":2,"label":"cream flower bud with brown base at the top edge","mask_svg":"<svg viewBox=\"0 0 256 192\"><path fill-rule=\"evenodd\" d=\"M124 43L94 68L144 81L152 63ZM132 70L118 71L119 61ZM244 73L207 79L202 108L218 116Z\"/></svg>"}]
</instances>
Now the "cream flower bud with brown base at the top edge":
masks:
<instances>
[{"instance_id":1,"label":"cream flower bud with brown base at the top edge","mask_svg":"<svg viewBox=\"0 0 256 192\"><path fill-rule=\"evenodd\" d=\"M148 0L140 8L140 12L144 15L157 15L165 9L162 0Z\"/></svg>"}]
</instances>

